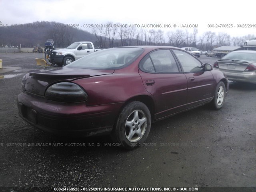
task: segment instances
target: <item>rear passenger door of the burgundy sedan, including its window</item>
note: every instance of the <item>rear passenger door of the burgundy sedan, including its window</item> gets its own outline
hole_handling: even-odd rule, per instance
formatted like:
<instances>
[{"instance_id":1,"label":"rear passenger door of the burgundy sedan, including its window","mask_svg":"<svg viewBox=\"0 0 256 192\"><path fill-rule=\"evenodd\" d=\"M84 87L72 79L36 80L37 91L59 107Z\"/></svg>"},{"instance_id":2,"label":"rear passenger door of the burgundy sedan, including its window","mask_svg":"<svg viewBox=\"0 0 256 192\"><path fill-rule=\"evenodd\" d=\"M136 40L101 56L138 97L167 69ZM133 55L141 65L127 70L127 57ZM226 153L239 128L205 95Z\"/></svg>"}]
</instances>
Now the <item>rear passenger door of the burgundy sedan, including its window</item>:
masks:
<instances>
[{"instance_id":1,"label":"rear passenger door of the burgundy sedan, including its window","mask_svg":"<svg viewBox=\"0 0 256 192\"><path fill-rule=\"evenodd\" d=\"M187 79L169 49L151 52L139 66L144 87L154 97L156 119L185 109Z\"/></svg>"}]
</instances>

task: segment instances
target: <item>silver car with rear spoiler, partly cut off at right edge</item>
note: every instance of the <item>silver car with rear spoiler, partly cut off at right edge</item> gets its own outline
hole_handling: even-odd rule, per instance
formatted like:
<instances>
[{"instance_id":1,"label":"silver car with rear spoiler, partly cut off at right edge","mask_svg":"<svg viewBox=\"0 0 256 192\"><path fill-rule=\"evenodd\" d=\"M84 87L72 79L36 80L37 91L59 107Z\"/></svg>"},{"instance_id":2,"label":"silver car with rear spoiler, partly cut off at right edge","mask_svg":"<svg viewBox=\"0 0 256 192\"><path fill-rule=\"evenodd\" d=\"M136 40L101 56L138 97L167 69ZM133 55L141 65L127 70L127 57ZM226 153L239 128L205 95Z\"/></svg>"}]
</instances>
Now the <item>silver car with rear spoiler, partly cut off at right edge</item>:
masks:
<instances>
[{"instance_id":1,"label":"silver car with rear spoiler, partly cut off at right edge","mask_svg":"<svg viewBox=\"0 0 256 192\"><path fill-rule=\"evenodd\" d=\"M213 64L228 80L256 84L256 51L233 51Z\"/></svg>"}]
</instances>

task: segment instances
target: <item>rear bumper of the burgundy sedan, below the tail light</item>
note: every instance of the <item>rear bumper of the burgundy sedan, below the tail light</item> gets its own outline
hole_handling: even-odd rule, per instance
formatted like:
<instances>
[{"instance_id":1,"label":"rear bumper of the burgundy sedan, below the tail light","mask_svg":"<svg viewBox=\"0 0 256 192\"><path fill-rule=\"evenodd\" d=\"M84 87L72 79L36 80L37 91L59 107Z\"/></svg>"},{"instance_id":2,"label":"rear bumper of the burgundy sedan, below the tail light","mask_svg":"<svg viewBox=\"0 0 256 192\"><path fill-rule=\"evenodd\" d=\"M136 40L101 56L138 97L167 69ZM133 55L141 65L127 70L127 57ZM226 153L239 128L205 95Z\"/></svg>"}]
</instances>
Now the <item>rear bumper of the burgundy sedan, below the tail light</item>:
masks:
<instances>
[{"instance_id":1,"label":"rear bumper of the burgundy sedan, below the tail light","mask_svg":"<svg viewBox=\"0 0 256 192\"><path fill-rule=\"evenodd\" d=\"M46 102L25 93L18 95L18 112L22 119L45 132L69 137L87 137L111 132L118 104L86 106L80 103Z\"/></svg>"}]
</instances>

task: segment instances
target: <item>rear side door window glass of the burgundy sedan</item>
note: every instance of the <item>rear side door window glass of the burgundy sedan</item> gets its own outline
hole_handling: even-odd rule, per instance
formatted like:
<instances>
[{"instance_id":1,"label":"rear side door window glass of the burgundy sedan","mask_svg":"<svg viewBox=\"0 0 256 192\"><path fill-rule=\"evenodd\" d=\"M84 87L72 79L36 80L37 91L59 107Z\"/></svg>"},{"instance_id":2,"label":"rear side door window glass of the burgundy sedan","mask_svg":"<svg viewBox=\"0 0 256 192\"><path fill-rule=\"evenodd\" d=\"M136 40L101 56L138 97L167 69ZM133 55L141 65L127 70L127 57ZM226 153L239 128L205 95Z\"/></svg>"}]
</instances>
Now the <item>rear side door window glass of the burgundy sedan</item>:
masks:
<instances>
[{"instance_id":1,"label":"rear side door window glass of the burgundy sedan","mask_svg":"<svg viewBox=\"0 0 256 192\"><path fill-rule=\"evenodd\" d=\"M178 73L178 67L170 50L156 50L144 57L140 62L144 72Z\"/></svg>"}]
</instances>

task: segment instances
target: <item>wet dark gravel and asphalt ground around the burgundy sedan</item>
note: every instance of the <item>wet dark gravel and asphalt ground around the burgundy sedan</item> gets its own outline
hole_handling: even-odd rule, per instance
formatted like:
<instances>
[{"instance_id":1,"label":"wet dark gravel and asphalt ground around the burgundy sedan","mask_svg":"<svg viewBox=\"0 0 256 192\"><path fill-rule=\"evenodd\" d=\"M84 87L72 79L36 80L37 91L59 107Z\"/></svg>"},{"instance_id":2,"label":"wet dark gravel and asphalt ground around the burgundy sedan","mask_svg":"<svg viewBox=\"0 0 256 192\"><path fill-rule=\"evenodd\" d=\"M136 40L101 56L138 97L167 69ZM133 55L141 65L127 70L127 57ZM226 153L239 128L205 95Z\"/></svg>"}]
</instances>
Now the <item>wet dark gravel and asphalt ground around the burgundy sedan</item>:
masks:
<instances>
[{"instance_id":1,"label":"wet dark gravel and asphalt ground around the burgundy sedan","mask_svg":"<svg viewBox=\"0 0 256 192\"><path fill-rule=\"evenodd\" d=\"M0 74L0 190L256 186L256 85L232 82L221 110L202 106L156 122L146 144L129 151L109 136L50 135L18 116L22 76L40 69L40 57L0 54L3 68L19 67Z\"/></svg>"}]
</instances>

